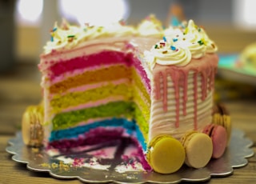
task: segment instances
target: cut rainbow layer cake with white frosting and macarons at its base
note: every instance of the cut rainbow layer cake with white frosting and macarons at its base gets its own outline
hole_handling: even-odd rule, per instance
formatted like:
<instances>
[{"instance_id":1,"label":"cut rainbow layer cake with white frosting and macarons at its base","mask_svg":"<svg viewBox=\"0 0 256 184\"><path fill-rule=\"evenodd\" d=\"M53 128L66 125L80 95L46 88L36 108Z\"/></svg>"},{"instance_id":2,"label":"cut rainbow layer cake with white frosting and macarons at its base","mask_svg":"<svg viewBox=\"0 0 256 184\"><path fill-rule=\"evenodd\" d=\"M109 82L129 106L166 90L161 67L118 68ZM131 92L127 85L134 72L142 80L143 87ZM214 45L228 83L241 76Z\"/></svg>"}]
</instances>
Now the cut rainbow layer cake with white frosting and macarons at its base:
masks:
<instances>
[{"instance_id":1,"label":"cut rainbow layer cake with white frosting and macarons at its base","mask_svg":"<svg viewBox=\"0 0 256 184\"><path fill-rule=\"evenodd\" d=\"M145 170L170 174L194 157L201 164L188 166L206 166L216 51L192 20L165 30L154 16L137 27L55 25L39 64L43 101L24 114L24 142L66 151L130 137ZM32 112L40 121L29 121ZM187 149L188 132L201 146Z\"/></svg>"}]
</instances>

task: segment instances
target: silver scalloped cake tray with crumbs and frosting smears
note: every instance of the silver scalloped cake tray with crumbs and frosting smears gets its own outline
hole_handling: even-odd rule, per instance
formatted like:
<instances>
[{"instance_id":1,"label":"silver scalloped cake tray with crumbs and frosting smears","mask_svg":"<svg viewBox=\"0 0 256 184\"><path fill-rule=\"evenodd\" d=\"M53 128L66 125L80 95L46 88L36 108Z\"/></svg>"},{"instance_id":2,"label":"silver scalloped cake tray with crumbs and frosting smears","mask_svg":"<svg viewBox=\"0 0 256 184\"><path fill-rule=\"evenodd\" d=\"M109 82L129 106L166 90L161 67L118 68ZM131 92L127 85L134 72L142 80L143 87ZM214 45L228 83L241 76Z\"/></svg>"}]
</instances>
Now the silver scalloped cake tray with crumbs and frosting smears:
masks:
<instances>
[{"instance_id":1,"label":"silver scalloped cake tray with crumbs and frosting smears","mask_svg":"<svg viewBox=\"0 0 256 184\"><path fill-rule=\"evenodd\" d=\"M18 132L10 139L6 151L14 154L15 162L25 163L29 170L49 172L53 178L78 179L81 182L114 183L178 183L200 182L211 177L227 177L234 168L246 166L246 158L254 155L250 148L253 142L245 138L242 130L233 129L230 146L222 158L212 159L202 169L196 170L182 166L174 174L158 174L142 169L137 148L122 140L109 142L107 145L83 147L68 153L57 150L44 150L25 146L22 134Z\"/></svg>"}]
</instances>

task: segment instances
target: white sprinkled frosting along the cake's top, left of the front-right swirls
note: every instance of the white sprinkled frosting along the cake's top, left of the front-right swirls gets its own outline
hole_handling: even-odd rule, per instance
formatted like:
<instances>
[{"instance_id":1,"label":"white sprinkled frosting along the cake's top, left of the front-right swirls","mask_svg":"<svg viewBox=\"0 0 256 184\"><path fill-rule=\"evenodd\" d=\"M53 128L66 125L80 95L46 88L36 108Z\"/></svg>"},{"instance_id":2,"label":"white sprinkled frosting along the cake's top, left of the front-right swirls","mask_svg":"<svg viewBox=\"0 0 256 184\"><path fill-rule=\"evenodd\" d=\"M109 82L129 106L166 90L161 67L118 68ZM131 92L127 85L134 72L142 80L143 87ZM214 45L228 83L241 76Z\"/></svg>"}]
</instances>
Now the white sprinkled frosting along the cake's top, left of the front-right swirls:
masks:
<instances>
[{"instance_id":1,"label":"white sprinkled frosting along the cake's top, left of the front-right swirls","mask_svg":"<svg viewBox=\"0 0 256 184\"><path fill-rule=\"evenodd\" d=\"M44 47L44 54L50 54L53 51L69 50L80 43L95 38L106 37L127 37L127 36L163 36L162 23L155 18L154 15L149 15L142 20L138 26L129 26L125 22L115 22L109 26L91 26L85 24L83 26L73 26L64 19L61 26L57 22L54 28L50 30L50 41Z\"/></svg>"}]
</instances>

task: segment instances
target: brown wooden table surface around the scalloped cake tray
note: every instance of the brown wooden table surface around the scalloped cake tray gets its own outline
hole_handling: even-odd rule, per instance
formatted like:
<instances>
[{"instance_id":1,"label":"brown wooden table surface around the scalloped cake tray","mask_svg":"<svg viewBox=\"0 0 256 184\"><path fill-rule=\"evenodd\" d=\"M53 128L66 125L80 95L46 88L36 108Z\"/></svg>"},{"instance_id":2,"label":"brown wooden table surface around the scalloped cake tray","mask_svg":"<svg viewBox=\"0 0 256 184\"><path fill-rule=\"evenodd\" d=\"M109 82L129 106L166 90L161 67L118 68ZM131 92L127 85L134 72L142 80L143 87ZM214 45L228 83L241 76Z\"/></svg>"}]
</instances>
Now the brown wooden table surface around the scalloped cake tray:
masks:
<instances>
[{"instance_id":1,"label":"brown wooden table surface around the scalloped cake tray","mask_svg":"<svg viewBox=\"0 0 256 184\"><path fill-rule=\"evenodd\" d=\"M41 99L40 74L37 66L18 66L10 74L0 75L0 184L3 183L81 183L78 180L60 180L47 173L26 169L26 164L14 162L6 152L8 140L20 130L22 113L26 106L38 104ZM245 89L246 90L246 89ZM225 100L234 128L245 132L256 150L256 97ZM256 156L249 163L226 178L211 178L202 183L256 183Z\"/></svg>"}]
</instances>

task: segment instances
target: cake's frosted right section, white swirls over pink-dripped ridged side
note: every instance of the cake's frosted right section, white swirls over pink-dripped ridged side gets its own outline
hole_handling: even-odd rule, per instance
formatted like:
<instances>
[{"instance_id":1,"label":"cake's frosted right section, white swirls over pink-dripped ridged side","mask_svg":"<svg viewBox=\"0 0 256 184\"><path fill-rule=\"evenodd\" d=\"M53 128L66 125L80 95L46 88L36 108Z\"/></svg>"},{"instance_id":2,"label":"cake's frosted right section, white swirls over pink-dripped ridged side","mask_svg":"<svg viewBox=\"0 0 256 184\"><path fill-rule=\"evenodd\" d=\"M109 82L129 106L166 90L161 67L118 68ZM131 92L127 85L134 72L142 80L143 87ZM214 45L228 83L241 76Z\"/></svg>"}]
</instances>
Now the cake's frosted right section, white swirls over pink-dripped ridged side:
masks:
<instances>
[{"instance_id":1,"label":"cake's frosted right section, white swirls over pink-dripped ridged side","mask_svg":"<svg viewBox=\"0 0 256 184\"><path fill-rule=\"evenodd\" d=\"M180 139L212 118L217 46L192 20L166 35L146 52L154 88L150 140L161 134Z\"/></svg>"}]
</instances>

